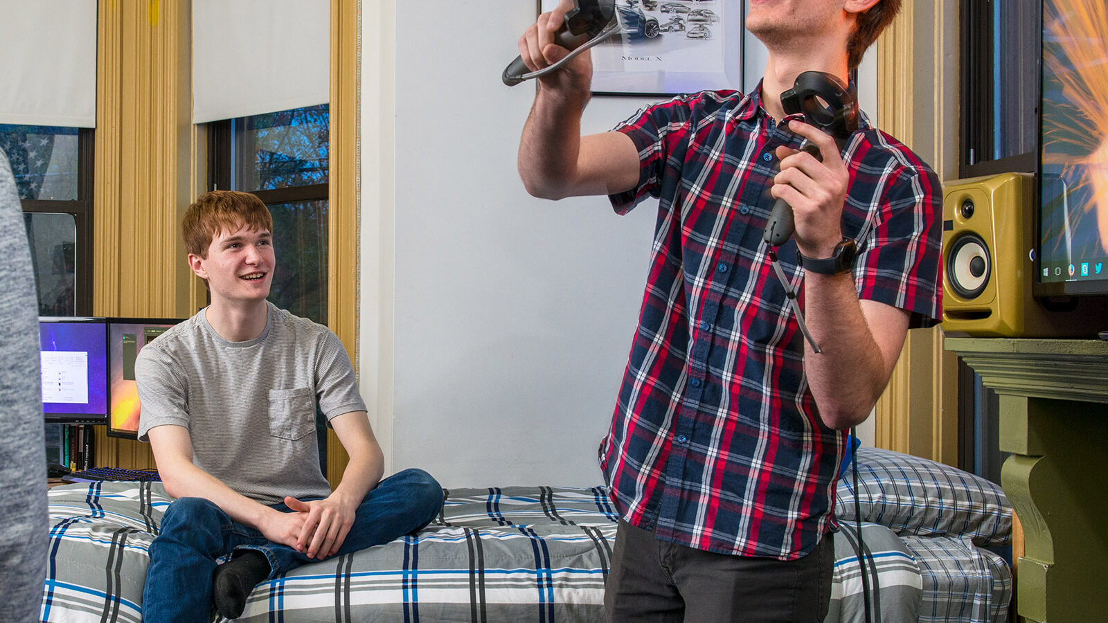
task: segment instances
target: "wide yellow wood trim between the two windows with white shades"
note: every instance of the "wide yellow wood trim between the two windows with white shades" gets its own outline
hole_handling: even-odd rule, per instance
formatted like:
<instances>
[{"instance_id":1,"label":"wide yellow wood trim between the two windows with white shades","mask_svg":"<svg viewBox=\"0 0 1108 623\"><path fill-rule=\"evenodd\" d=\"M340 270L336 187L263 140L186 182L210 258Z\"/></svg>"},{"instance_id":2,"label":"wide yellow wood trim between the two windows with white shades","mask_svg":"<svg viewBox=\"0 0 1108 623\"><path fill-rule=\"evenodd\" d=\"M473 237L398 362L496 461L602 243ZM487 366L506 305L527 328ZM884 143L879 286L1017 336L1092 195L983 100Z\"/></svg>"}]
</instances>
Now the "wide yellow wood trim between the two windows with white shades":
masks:
<instances>
[{"instance_id":1,"label":"wide yellow wood trim between the two windows with white shades","mask_svg":"<svg viewBox=\"0 0 1108 623\"><path fill-rule=\"evenodd\" d=\"M191 315L177 223L196 190L192 3L100 0L93 314ZM145 443L96 427L99 464L154 466Z\"/></svg>"}]
</instances>

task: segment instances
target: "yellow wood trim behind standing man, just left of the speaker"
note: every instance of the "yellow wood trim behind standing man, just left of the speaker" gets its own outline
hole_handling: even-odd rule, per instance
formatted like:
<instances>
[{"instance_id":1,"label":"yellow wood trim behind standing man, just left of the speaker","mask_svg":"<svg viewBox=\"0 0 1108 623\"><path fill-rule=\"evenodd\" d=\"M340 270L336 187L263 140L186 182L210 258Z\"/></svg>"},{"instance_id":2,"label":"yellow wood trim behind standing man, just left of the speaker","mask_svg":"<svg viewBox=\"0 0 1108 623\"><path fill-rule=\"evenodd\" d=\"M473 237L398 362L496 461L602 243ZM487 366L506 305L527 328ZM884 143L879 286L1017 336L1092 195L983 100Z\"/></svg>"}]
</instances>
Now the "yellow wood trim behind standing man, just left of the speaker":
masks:
<instances>
[{"instance_id":1,"label":"yellow wood trim behind standing man, just left of the speaker","mask_svg":"<svg viewBox=\"0 0 1108 623\"><path fill-rule=\"evenodd\" d=\"M956 173L957 2L905 4L878 41L878 119L938 174ZM952 168L953 167L953 168ZM909 331L875 407L881 448L957 464L957 357L938 327Z\"/></svg>"}]
</instances>

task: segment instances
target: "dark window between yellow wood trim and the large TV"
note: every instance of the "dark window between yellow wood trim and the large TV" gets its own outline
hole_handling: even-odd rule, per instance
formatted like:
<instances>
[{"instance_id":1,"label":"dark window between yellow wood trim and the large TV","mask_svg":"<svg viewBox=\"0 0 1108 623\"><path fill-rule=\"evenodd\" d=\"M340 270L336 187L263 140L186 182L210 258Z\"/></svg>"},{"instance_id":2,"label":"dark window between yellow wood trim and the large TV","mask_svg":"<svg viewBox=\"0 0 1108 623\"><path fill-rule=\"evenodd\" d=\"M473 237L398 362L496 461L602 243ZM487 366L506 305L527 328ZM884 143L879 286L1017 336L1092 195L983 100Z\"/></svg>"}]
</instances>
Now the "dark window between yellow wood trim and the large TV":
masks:
<instances>
[{"instance_id":1,"label":"dark window between yellow wood trim and the large TV","mask_svg":"<svg viewBox=\"0 0 1108 623\"><path fill-rule=\"evenodd\" d=\"M1034 173L1040 3L962 2L961 177Z\"/></svg>"}]
</instances>

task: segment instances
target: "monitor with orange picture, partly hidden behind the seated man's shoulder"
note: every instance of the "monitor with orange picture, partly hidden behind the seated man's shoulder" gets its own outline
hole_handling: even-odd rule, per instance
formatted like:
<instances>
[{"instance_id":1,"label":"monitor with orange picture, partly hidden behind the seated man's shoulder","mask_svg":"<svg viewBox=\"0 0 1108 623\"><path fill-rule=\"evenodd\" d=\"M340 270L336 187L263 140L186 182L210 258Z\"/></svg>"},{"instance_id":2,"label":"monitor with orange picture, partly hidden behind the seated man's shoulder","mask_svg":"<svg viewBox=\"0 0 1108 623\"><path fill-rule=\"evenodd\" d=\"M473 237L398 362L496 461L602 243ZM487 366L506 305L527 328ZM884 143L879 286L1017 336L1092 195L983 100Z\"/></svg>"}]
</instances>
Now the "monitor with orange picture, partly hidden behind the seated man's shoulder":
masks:
<instances>
[{"instance_id":1,"label":"monitor with orange picture, partly hidden behind the seated man's shoulder","mask_svg":"<svg viewBox=\"0 0 1108 623\"><path fill-rule=\"evenodd\" d=\"M109 436L137 439L142 405L135 384L135 358L154 338L179 321L175 318L107 318L111 361Z\"/></svg>"}]
</instances>

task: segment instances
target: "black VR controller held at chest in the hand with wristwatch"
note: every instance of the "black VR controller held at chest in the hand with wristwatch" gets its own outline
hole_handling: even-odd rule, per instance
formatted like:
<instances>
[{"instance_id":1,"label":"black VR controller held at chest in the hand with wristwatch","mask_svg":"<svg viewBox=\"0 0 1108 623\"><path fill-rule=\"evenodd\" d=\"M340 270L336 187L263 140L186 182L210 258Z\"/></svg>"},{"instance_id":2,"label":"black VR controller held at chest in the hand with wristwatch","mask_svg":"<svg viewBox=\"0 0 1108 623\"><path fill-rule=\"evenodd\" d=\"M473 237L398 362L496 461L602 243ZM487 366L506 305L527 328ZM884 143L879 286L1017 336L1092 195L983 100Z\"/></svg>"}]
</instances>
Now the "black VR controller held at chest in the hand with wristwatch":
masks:
<instances>
[{"instance_id":1,"label":"black VR controller held at chest in the hand with wristwatch","mask_svg":"<svg viewBox=\"0 0 1108 623\"><path fill-rule=\"evenodd\" d=\"M803 114L804 122L830 134L840 151L847 145L847 139L858 130L858 98L850 86L830 73L806 71L798 75L792 89L781 93L781 108L786 114ZM800 149L822 160L815 144L804 140ZM762 239L770 246L780 246L794 229L792 207L784 200L777 200Z\"/></svg>"}]
</instances>

